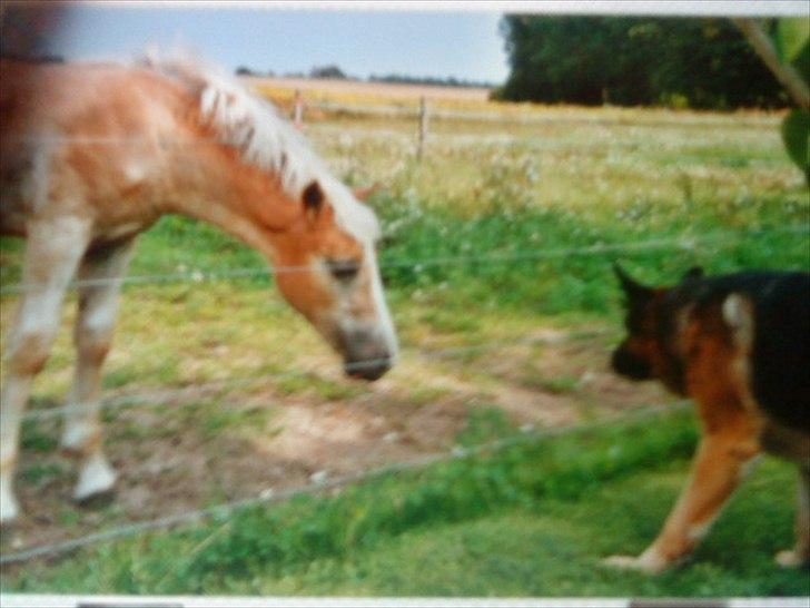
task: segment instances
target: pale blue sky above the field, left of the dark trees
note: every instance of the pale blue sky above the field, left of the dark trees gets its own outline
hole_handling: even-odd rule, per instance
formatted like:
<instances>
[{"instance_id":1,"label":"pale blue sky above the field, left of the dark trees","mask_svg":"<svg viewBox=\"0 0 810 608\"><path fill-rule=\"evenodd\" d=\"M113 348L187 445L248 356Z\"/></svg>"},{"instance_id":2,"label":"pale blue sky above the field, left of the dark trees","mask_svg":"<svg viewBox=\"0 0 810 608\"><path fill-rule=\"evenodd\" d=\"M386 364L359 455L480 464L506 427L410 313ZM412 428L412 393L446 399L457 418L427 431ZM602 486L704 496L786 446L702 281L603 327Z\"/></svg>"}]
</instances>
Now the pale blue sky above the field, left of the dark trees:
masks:
<instances>
[{"instance_id":1,"label":"pale blue sky above the field, left of the dark trees","mask_svg":"<svg viewBox=\"0 0 810 608\"><path fill-rule=\"evenodd\" d=\"M502 82L507 73L497 12L190 9L79 6L50 40L69 59L126 59L149 43L184 43L229 68L305 72L335 63L371 73Z\"/></svg>"}]
</instances>

